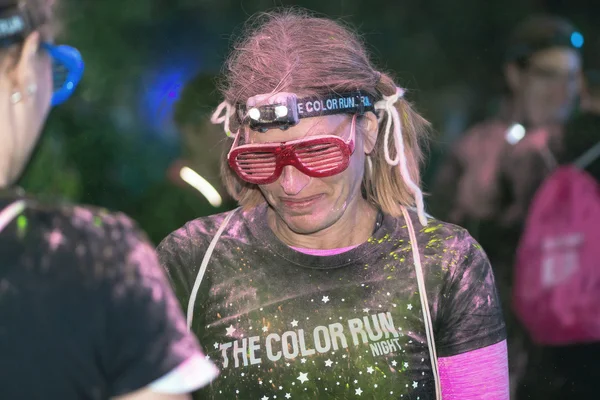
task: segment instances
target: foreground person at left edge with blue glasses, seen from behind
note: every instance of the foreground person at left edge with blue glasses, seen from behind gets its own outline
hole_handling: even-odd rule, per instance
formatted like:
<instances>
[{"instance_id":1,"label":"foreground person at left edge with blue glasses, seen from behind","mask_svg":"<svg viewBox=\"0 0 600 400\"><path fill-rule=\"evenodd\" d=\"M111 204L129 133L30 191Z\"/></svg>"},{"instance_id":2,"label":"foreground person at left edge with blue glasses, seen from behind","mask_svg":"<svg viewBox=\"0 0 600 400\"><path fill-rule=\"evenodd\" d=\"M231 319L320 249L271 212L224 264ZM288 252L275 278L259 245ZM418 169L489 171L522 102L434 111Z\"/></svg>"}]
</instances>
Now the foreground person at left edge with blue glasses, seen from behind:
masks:
<instances>
[{"instance_id":1,"label":"foreground person at left edge with blue glasses, seen from behind","mask_svg":"<svg viewBox=\"0 0 600 400\"><path fill-rule=\"evenodd\" d=\"M83 73L75 49L53 44L53 8L0 0L0 398L188 398L217 371L145 234L15 187Z\"/></svg>"}]
</instances>

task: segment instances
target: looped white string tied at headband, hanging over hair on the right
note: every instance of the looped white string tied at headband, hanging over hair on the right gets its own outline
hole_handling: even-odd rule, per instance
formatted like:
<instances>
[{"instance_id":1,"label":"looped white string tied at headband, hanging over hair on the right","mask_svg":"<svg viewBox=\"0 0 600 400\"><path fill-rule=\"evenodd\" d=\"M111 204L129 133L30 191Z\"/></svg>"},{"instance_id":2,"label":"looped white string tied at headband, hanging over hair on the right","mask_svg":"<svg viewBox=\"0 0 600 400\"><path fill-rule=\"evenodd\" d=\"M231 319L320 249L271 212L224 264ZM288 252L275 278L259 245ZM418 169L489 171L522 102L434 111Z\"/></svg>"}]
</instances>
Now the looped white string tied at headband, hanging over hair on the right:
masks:
<instances>
[{"instance_id":1,"label":"looped white string tied at headband, hanging over hair on the right","mask_svg":"<svg viewBox=\"0 0 600 400\"><path fill-rule=\"evenodd\" d=\"M413 182L410 178L410 173L408 172L408 166L406 164L406 155L404 153L404 140L402 139L402 121L400 120L400 114L398 113L398 109L396 108L396 103L399 99L404 97L404 89L396 88L396 93L391 96L383 96L383 100L375 103L376 111L384 111L387 114L387 121L385 124L385 134L383 136L384 141L384 155L385 160L391 166L399 165L400 167L400 175L402 176L402 180L409 187L409 189L413 192L415 197L415 203L417 206L417 214L419 215L419 222L421 225L427 226L427 217L425 216L425 204L423 202L423 192L419 186ZM379 122L381 123L383 119L383 115L379 115ZM392 123L394 129L392 130ZM389 151L389 140L390 133L393 134L393 143L396 148L396 157L392 160L390 157Z\"/></svg>"}]
</instances>

